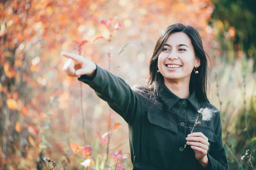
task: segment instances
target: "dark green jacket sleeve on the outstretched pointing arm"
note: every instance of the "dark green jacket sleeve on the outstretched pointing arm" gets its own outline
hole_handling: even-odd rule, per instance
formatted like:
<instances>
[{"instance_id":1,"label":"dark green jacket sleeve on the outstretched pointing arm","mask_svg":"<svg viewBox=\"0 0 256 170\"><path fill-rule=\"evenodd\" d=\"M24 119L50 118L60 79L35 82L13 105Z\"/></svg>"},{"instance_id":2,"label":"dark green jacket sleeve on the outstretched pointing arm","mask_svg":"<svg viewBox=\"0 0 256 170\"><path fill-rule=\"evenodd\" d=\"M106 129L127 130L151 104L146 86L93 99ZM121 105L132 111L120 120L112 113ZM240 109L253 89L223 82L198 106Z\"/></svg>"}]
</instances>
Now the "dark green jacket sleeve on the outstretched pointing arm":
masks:
<instances>
[{"instance_id":1,"label":"dark green jacket sleeve on the outstretched pointing arm","mask_svg":"<svg viewBox=\"0 0 256 170\"><path fill-rule=\"evenodd\" d=\"M97 64L93 77L82 75L78 80L93 88L96 95L108 102L108 105L128 124L134 121L146 102L142 93L131 89L125 80Z\"/></svg>"}]
</instances>

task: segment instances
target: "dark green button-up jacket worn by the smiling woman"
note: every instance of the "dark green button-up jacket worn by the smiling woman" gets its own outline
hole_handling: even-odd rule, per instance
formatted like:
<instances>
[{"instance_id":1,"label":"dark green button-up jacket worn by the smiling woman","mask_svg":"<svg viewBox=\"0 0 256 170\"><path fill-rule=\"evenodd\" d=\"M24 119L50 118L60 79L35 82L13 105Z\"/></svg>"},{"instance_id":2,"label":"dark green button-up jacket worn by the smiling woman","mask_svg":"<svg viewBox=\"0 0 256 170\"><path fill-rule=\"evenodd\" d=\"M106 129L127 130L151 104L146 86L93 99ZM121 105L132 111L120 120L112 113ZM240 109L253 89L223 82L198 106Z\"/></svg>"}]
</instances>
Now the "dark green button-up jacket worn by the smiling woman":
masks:
<instances>
[{"instance_id":1,"label":"dark green button-up jacket worn by the smiling woman","mask_svg":"<svg viewBox=\"0 0 256 170\"><path fill-rule=\"evenodd\" d=\"M183 147L195 124L197 111L206 107L218 111L209 102L199 102L195 93L188 99L180 99L165 86L160 92L163 102L155 104L99 65L94 77L83 75L79 80L93 88L97 96L128 123L134 170L203 170L190 145L184 150ZM193 132L204 133L210 143L207 169L227 170L219 111L208 122L201 116L198 120L201 125Z\"/></svg>"}]
</instances>

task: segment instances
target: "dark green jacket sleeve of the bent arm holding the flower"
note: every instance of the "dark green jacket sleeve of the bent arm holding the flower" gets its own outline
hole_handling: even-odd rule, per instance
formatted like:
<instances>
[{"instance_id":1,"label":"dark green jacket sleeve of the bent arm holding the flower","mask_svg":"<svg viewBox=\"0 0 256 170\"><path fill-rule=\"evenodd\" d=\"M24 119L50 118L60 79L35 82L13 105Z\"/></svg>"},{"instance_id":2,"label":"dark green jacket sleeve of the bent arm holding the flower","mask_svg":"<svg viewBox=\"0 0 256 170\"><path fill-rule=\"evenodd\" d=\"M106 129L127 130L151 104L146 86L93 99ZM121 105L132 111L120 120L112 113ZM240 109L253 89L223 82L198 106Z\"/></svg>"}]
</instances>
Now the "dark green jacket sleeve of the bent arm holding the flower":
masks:
<instances>
[{"instance_id":1,"label":"dark green jacket sleeve of the bent arm holding the flower","mask_svg":"<svg viewBox=\"0 0 256 170\"><path fill-rule=\"evenodd\" d=\"M221 116L218 114L218 123L215 130L215 134L218 137L218 142L212 142L210 151L207 153L208 167L204 169L201 164L201 170L227 170L227 156L222 144L222 127L221 127Z\"/></svg>"}]
</instances>

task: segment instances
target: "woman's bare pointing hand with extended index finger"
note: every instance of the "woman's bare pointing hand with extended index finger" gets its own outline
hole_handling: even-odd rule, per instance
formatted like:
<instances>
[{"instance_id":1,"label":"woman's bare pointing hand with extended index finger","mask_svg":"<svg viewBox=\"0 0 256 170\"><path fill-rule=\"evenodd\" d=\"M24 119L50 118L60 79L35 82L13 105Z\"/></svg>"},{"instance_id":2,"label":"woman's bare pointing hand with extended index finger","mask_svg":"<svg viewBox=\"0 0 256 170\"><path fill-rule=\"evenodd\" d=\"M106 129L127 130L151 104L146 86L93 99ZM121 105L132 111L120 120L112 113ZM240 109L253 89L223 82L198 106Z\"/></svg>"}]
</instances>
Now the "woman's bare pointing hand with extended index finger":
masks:
<instances>
[{"instance_id":1,"label":"woman's bare pointing hand with extended index finger","mask_svg":"<svg viewBox=\"0 0 256 170\"><path fill-rule=\"evenodd\" d=\"M63 71L67 76L81 77L84 74L88 77L93 76L96 70L96 64L94 62L72 53L62 52L61 55L68 58L63 66Z\"/></svg>"}]
</instances>

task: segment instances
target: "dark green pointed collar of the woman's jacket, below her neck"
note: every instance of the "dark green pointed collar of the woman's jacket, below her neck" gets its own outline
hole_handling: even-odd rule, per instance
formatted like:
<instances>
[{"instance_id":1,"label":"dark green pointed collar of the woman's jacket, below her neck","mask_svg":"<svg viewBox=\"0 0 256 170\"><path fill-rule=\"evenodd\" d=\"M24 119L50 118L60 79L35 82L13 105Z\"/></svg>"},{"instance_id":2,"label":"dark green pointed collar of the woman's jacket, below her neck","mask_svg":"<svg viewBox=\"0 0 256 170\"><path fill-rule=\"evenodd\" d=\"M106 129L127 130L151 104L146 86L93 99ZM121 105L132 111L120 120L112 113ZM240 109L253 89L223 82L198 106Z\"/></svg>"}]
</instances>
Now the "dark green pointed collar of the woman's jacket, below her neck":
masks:
<instances>
[{"instance_id":1,"label":"dark green pointed collar of the woman's jacket, below her neck","mask_svg":"<svg viewBox=\"0 0 256 170\"><path fill-rule=\"evenodd\" d=\"M166 85L163 86L163 88L160 91L160 96L163 99L163 102L165 102L167 109L170 111L172 107L181 99L175 94L172 93L172 91L169 90L169 88L166 87ZM190 96L186 99L191 103L193 108L195 108L196 111L199 110L198 107L198 99L196 97L195 91L190 94Z\"/></svg>"}]
</instances>

